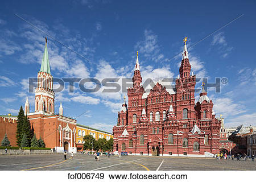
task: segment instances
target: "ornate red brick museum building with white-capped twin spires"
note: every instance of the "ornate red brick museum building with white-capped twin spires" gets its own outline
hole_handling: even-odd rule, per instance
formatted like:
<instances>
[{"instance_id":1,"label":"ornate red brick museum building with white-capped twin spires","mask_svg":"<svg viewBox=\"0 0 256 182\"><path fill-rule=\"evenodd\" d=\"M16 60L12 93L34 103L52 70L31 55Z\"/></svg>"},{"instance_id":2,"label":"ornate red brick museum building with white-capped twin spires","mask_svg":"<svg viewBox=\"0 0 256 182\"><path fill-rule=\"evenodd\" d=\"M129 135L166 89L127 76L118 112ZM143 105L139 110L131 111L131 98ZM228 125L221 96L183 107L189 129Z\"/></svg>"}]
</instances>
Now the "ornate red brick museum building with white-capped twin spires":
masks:
<instances>
[{"instance_id":1,"label":"ornate red brick museum building with white-capped twin spires","mask_svg":"<svg viewBox=\"0 0 256 182\"><path fill-rule=\"evenodd\" d=\"M142 86L138 53L133 87L127 89L113 127L114 151L129 155L212 156L219 152L221 120L203 90L195 102L196 76L191 73L187 38L174 88L159 81L150 92Z\"/></svg>"}]
</instances>

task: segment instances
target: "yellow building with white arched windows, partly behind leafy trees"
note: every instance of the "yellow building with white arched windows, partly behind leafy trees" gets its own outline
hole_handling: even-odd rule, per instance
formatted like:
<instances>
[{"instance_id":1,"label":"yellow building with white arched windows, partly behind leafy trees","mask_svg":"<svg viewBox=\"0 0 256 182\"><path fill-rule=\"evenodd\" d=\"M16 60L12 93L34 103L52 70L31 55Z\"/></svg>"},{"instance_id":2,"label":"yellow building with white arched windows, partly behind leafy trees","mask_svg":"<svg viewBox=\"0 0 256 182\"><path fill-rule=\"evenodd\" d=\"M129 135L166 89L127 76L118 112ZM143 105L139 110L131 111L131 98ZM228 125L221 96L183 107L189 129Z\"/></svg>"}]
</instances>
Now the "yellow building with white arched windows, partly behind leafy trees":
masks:
<instances>
[{"instance_id":1,"label":"yellow building with white arched windows, partly behind leafy trees","mask_svg":"<svg viewBox=\"0 0 256 182\"><path fill-rule=\"evenodd\" d=\"M83 151L83 146L84 146L84 136L85 135L92 135L93 138L95 138L96 140L98 140L99 138L106 138L106 140L109 140L110 138L113 138L113 134L112 133L108 133L106 131L101 131L98 129L93 129L91 127L88 126L84 126L84 125L80 125L77 124L76 125L76 147L77 147L77 151Z\"/></svg>"}]
</instances>

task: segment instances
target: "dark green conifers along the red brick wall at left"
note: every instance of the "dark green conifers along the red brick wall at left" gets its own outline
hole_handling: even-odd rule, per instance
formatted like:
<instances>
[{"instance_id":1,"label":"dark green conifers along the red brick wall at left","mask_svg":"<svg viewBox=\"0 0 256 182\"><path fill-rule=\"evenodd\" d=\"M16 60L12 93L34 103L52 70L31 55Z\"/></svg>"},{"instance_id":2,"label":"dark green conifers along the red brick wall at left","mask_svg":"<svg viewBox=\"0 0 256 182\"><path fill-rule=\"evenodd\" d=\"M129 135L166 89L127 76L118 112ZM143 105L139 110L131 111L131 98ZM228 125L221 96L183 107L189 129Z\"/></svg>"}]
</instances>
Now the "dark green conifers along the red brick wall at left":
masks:
<instances>
[{"instance_id":1,"label":"dark green conifers along the red brick wall at left","mask_svg":"<svg viewBox=\"0 0 256 182\"><path fill-rule=\"evenodd\" d=\"M36 135L34 134L34 127L31 127L30 121L27 116L25 116L22 106L20 106L16 128L16 143L20 148L46 147L46 144L41 137L39 139L36 138ZM1 142L1 146L11 146L6 134Z\"/></svg>"}]
</instances>

